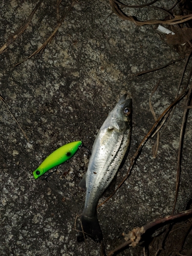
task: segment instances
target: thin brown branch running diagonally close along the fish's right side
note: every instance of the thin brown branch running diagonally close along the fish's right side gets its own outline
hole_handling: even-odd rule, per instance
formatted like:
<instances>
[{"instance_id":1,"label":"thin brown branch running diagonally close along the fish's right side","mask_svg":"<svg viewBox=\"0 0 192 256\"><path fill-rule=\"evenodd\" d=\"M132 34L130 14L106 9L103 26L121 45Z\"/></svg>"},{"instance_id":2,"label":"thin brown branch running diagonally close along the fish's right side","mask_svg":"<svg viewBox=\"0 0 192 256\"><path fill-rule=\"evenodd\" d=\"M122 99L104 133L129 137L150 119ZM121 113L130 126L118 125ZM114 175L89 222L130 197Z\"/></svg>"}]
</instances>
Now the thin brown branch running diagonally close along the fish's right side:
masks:
<instances>
[{"instance_id":1,"label":"thin brown branch running diagonally close along the fish's right side","mask_svg":"<svg viewBox=\"0 0 192 256\"><path fill-rule=\"evenodd\" d=\"M135 161L136 161L136 158L138 157L138 155L139 155L139 153L140 153L140 151L141 151L143 145L145 144L145 142L148 140L148 138L149 138L149 137L152 135L152 133L155 131L155 129L157 128L159 122L160 122L160 121L162 120L162 118L166 115L166 113L167 113L170 109L172 109L173 106L174 106L175 104L177 104L177 103L180 101L180 99L183 98L184 95L186 95L187 92L188 92L188 90L182 91L181 94L177 97L177 99L175 99L174 102L173 102L172 104L170 104L170 105L168 106L168 108L166 108L166 110L164 110L164 112L158 117L157 121L154 123L153 127L151 128L151 130L147 133L147 135L144 137L144 139L141 141L139 147L137 148L137 151L135 152L134 156L133 156L132 159L131 159L130 167L129 167L129 169L127 170L127 174L125 175L125 177L123 178L123 180L121 181L121 183L120 183L120 184L118 185L118 187L115 189L115 191L113 192L113 194L112 194L110 197L108 197L107 199L105 199L101 204L99 204L99 205L97 206L97 208L100 207L101 205L103 205L105 202L107 202L110 198L112 198L113 195L116 193L116 191L119 189L119 187L120 187L120 186L124 183L124 181L129 177L130 172L131 172L131 170L132 170L132 168L133 168L133 165L134 165L134 163L135 163Z\"/></svg>"}]
</instances>

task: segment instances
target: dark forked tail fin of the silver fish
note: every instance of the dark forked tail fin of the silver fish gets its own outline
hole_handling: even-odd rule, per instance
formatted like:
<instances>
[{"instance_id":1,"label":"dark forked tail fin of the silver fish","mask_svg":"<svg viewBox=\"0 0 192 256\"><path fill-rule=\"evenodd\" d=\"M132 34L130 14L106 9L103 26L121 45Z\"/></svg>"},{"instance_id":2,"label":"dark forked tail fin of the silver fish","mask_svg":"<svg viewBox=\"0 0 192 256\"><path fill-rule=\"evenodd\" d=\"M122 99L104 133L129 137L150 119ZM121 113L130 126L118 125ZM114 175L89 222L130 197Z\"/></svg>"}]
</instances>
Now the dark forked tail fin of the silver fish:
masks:
<instances>
[{"instance_id":1,"label":"dark forked tail fin of the silver fish","mask_svg":"<svg viewBox=\"0 0 192 256\"><path fill-rule=\"evenodd\" d=\"M84 239L87 238L87 236L93 239L97 243L100 243L103 240L102 231L99 226L97 214L95 214L94 217L92 218L86 217L82 214L81 224L82 224L83 232L82 232L81 225L79 225L79 230L81 232L79 232L77 235L78 242L84 241Z\"/></svg>"}]
</instances>

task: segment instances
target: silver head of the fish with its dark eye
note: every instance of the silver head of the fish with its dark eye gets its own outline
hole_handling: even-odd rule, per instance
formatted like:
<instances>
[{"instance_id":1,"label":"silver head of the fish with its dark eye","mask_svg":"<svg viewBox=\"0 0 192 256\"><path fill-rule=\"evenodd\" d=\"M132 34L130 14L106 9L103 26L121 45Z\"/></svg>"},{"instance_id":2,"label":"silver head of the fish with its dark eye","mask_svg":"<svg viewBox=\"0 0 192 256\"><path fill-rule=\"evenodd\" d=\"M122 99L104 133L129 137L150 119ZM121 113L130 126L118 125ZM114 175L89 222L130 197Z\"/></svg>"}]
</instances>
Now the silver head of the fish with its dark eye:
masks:
<instances>
[{"instance_id":1,"label":"silver head of the fish with its dark eye","mask_svg":"<svg viewBox=\"0 0 192 256\"><path fill-rule=\"evenodd\" d=\"M131 127L132 99L126 99L126 96L127 94L124 94L121 97L108 116L110 130L121 132Z\"/></svg>"}]
</instances>

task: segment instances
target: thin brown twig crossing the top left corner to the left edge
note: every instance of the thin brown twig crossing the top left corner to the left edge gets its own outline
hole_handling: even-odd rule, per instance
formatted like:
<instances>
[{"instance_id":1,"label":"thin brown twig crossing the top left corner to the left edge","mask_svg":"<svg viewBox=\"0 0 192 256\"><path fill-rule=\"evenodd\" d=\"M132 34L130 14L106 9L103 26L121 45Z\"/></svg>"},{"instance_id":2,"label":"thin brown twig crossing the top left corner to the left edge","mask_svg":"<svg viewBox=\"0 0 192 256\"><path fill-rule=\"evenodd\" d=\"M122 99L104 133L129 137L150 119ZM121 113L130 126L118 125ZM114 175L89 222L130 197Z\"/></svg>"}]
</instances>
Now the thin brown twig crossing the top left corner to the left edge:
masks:
<instances>
[{"instance_id":1,"label":"thin brown twig crossing the top left corner to the left edge","mask_svg":"<svg viewBox=\"0 0 192 256\"><path fill-rule=\"evenodd\" d=\"M3 52L6 51L7 47L9 47L12 42L21 34L24 33L24 31L27 29L27 27L29 26L32 18L33 18L33 15L35 14L36 10L38 9L38 7L40 6L40 4L42 3L43 0L40 0L38 2L38 4L35 6L35 8L33 9L32 13L29 15L28 19L26 20L26 23L21 27L19 28L13 35L11 35L7 42L5 43L4 46L2 46L2 48L0 48L0 54L2 54Z\"/></svg>"}]
</instances>

